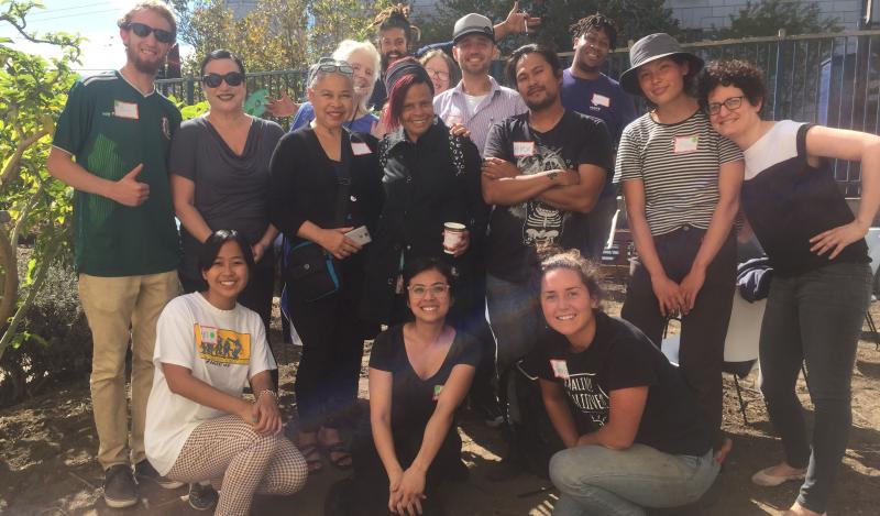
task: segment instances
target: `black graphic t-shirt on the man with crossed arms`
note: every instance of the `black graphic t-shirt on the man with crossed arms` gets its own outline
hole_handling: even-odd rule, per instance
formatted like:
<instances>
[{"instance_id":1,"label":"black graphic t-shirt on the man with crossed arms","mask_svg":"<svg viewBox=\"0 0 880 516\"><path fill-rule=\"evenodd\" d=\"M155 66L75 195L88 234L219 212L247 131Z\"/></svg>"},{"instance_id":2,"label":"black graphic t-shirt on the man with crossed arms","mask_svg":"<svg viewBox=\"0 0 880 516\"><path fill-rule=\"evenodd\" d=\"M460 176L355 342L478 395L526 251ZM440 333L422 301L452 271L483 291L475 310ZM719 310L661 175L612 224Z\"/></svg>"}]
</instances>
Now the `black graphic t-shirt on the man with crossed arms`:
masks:
<instances>
[{"instance_id":1,"label":"black graphic t-shirt on the man with crossed arms","mask_svg":"<svg viewBox=\"0 0 880 516\"><path fill-rule=\"evenodd\" d=\"M531 129L528 120L529 113L522 113L495 124L484 155L514 163L522 174L576 171L584 164L606 173L612 169L610 138L602 120L565 110L559 123L544 133ZM586 219L586 213L560 210L538 199L497 206L490 219L486 270L503 279L524 282L537 271L536 250L540 248L559 245L585 252Z\"/></svg>"}]
</instances>

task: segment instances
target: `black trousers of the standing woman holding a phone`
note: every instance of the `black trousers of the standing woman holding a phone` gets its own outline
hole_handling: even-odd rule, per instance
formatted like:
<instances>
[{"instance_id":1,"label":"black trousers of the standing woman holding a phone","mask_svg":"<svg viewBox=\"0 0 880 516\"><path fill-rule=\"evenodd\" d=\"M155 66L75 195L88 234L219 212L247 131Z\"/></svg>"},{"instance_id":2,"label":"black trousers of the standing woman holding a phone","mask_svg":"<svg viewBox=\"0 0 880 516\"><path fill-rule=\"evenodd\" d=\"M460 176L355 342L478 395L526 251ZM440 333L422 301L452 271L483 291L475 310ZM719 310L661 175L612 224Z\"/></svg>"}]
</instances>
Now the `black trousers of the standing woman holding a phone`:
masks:
<instances>
[{"instance_id":1,"label":"black trousers of the standing woman holding a phone","mask_svg":"<svg viewBox=\"0 0 880 516\"><path fill-rule=\"evenodd\" d=\"M358 400L365 325L344 290L315 301L289 296L290 318L302 340L296 372L300 431L339 428Z\"/></svg>"}]
</instances>

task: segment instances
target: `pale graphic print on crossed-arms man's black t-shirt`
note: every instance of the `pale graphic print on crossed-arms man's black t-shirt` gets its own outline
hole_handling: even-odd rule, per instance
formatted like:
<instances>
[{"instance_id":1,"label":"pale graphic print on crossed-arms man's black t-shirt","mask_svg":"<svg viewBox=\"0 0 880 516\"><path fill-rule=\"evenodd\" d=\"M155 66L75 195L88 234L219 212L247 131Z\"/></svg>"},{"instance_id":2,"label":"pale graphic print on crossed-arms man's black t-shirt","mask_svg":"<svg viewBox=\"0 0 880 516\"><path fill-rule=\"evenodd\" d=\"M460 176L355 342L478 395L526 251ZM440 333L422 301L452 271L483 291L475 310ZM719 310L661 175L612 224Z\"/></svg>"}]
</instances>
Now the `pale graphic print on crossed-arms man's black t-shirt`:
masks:
<instances>
[{"instance_id":1,"label":"pale graphic print on crossed-arms man's black t-shirt","mask_svg":"<svg viewBox=\"0 0 880 516\"><path fill-rule=\"evenodd\" d=\"M562 153L536 142L532 155L517 156L516 165L525 175L538 174L553 169L571 169ZM563 212L537 199L514 205L508 208L510 215L522 220L522 244L544 248L553 245L562 237L562 226L569 212Z\"/></svg>"}]
</instances>

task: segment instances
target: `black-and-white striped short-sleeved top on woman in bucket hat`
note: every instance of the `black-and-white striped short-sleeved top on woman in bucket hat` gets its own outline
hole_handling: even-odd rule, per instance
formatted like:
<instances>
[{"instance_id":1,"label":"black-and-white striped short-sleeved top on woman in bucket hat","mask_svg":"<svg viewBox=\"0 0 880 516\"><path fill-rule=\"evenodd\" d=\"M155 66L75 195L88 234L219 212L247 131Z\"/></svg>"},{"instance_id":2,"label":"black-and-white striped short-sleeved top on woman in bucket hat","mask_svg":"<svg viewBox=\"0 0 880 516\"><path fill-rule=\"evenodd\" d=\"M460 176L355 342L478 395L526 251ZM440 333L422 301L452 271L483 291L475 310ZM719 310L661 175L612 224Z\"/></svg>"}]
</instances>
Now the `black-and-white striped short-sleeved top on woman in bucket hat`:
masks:
<instances>
[{"instance_id":1,"label":"black-and-white striped short-sleeved top on woman in bucket hat","mask_svg":"<svg viewBox=\"0 0 880 516\"><path fill-rule=\"evenodd\" d=\"M646 113L624 129L614 183L644 183L651 234L683 226L708 229L721 199L718 169L737 160L743 153L712 129L702 110L672 124L654 122Z\"/></svg>"}]
</instances>

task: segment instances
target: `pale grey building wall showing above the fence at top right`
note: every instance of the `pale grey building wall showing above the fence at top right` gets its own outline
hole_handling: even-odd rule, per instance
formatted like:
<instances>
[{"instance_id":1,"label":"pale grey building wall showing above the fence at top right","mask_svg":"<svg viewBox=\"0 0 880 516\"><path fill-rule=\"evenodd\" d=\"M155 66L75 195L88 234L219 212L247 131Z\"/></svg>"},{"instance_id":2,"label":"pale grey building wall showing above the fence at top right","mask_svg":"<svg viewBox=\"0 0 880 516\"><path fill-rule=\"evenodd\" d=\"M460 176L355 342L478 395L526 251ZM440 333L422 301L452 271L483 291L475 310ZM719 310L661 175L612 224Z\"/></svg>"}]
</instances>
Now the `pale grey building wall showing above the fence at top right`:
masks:
<instances>
[{"instance_id":1,"label":"pale grey building wall showing above the fence at top right","mask_svg":"<svg viewBox=\"0 0 880 516\"><path fill-rule=\"evenodd\" d=\"M862 14L865 0L792 0L793 3L817 3L827 18L837 18L846 30L856 30ZM667 0L682 29L712 29L729 26L730 15L736 17L746 7L746 0ZM755 3L755 2L752 2Z\"/></svg>"}]
</instances>

